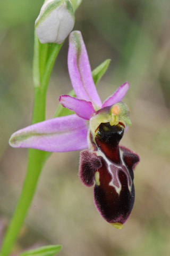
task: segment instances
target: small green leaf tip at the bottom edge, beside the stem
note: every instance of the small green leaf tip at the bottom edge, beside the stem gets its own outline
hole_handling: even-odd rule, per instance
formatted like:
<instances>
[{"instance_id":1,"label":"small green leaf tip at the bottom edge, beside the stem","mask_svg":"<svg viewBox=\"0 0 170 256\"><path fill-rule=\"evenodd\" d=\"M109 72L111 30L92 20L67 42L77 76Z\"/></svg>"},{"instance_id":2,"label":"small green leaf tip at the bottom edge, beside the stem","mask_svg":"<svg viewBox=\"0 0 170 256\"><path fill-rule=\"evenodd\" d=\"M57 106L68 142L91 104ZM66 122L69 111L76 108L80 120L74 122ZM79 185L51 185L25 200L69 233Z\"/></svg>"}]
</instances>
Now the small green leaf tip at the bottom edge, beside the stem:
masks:
<instances>
[{"instance_id":1,"label":"small green leaf tip at the bottom edge, beside the stem","mask_svg":"<svg viewBox=\"0 0 170 256\"><path fill-rule=\"evenodd\" d=\"M62 249L61 245L47 245L21 253L19 256L55 256Z\"/></svg>"}]
</instances>

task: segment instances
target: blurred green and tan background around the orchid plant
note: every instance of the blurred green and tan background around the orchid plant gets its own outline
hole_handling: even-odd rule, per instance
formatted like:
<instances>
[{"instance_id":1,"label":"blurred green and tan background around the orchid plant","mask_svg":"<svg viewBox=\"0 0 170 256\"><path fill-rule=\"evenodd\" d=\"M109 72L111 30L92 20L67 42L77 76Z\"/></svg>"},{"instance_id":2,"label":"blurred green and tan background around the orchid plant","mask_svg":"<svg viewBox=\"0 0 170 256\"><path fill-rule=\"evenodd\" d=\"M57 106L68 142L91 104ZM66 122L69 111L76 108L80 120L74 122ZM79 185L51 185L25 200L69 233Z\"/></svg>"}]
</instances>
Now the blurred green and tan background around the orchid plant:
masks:
<instances>
[{"instance_id":1,"label":"blurred green and tan background around the orchid plant","mask_svg":"<svg viewBox=\"0 0 170 256\"><path fill-rule=\"evenodd\" d=\"M31 122L33 29L42 4L0 2L0 231L12 216L27 166L27 149L11 148L8 139ZM131 84L124 101L133 125L122 145L141 156L134 209L122 230L113 228L95 209L93 189L79 180L79 152L53 153L15 252L33 244L62 244L61 256L170 255L169 23L169 0L83 0L74 29L81 30L91 68L112 59L98 85L101 99L125 81ZM53 117L59 95L71 90L67 49L66 40L50 79L47 118Z\"/></svg>"}]
</instances>

